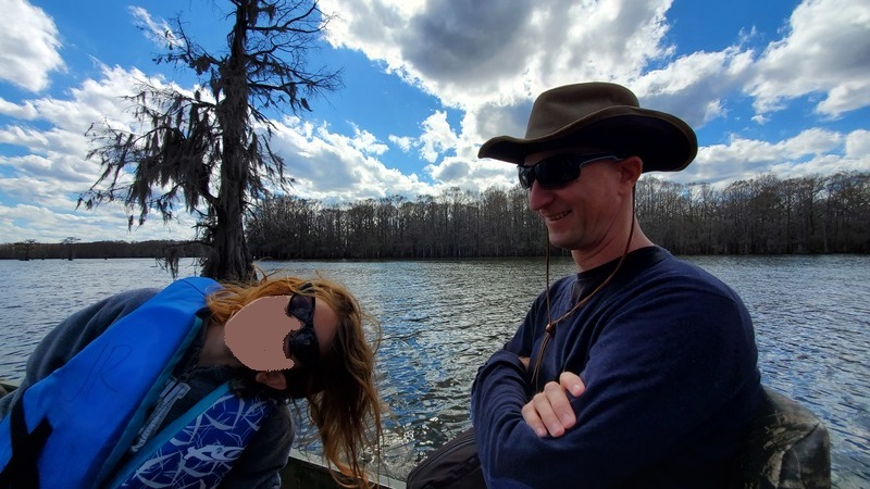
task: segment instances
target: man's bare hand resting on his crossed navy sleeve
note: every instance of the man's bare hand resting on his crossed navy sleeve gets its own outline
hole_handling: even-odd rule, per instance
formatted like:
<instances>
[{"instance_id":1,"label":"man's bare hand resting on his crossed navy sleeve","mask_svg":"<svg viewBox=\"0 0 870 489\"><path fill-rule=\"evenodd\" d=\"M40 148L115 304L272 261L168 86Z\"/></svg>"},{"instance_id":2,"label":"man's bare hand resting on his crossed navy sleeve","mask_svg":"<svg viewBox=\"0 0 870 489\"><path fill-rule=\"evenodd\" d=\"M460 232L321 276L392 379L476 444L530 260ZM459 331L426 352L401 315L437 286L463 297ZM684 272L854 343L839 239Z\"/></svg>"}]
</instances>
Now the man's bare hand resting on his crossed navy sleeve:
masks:
<instances>
[{"instance_id":1,"label":"man's bare hand resting on his crossed navy sleeve","mask_svg":"<svg viewBox=\"0 0 870 489\"><path fill-rule=\"evenodd\" d=\"M564 435L577 422L568 393L577 398L586 386L580 376L571 372L562 372L559 381L550 381L523 406L523 419L535 430L538 437L558 438Z\"/></svg>"}]
</instances>

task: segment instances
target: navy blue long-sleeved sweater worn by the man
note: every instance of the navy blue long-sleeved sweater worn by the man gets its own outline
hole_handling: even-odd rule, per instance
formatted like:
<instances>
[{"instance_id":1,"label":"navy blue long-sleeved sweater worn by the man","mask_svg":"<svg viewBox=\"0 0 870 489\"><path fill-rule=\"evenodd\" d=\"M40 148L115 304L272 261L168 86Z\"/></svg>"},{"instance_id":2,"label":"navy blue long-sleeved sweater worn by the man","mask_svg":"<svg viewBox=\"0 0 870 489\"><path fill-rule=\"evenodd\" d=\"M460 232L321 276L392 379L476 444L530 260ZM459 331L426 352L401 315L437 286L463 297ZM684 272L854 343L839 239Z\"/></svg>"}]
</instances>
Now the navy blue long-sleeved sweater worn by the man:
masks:
<instances>
[{"instance_id":1,"label":"navy blue long-sleeved sweater worn by the man","mask_svg":"<svg viewBox=\"0 0 870 489\"><path fill-rule=\"evenodd\" d=\"M556 281L558 318L616 262ZM544 294L517 335L478 371L472 419L493 488L714 488L724 484L761 399L751 319L728 286L652 247L629 254L613 280L556 326L539 385L535 362L547 324ZM586 390L577 424L538 438L522 418L531 396L562 372Z\"/></svg>"}]
</instances>

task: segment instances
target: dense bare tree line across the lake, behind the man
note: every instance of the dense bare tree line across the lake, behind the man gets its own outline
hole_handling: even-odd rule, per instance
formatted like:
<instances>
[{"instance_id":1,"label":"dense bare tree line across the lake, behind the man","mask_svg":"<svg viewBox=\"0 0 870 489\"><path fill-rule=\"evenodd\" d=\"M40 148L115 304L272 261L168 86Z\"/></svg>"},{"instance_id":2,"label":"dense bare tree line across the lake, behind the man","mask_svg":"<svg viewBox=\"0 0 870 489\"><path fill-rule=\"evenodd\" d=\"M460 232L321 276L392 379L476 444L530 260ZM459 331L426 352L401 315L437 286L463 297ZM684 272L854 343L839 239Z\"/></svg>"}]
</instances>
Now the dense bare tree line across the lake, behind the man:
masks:
<instances>
[{"instance_id":1,"label":"dense bare tree line across the lake, behind the man","mask_svg":"<svg viewBox=\"0 0 870 489\"><path fill-rule=\"evenodd\" d=\"M866 172L765 174L721 189L645 176L636 199L644 231L676 254L870 252ZM247 236L256 258L275 260L524 256L547 246L519 186L344 205L271 198L248 218Z\"/></svg>"}]
</instances>

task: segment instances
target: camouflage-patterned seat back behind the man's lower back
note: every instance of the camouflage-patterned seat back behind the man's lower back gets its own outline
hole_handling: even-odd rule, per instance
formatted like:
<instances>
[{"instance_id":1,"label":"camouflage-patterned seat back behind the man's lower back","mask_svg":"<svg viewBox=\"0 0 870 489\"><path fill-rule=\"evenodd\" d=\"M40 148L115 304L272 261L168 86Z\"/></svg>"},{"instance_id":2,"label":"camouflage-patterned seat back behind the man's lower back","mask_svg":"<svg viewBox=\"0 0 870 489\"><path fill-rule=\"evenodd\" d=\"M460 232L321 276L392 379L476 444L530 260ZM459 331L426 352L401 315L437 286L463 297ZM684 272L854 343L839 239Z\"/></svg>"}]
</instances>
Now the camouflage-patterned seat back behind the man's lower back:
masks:
<instances>
[{"instance_id":1,"label":"camouflage-patterned seat back behind the man's lower back","mask_svg":"<svg viewBox=\"0 0 870 489\"><path fill-rule=\"evenodd\" d=\"M828 429L808 409L765 387L765 401L741 454L745 489L822 489L831 487Z\"/></svg>"}]
</instances>

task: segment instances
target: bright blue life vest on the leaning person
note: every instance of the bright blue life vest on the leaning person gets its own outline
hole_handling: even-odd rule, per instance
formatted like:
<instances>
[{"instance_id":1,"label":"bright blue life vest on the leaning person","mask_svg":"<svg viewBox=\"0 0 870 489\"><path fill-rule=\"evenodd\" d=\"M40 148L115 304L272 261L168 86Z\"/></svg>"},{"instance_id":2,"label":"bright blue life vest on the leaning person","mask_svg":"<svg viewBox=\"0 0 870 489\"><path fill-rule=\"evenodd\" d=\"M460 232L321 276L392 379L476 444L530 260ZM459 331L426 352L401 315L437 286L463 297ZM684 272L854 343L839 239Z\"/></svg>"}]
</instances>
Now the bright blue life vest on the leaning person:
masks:
<instances>
[{"instance_id":1,"label":"bright blue life vest on the leaning person","mask_svg":"<svg viewBox=\"0 0 870 489\"><path fill-rule=\"evenodd\" d=\"M200 331L201 319L196 312L203 308L204 297L216 287L215 281L206 278L175 281L115 322L62 367L26 386L23 394L18 394L18 402L0 422L0 467L10 465L13 456L17 468L26 465L22 460L37 459L35 472L27 477L38 474L42 488L91 488L104 484L126 456L174 366ZM204 426L204 417L219 419L223 414L227 419L240 419L248 416L244 426L252 427L252 431L236 434L221 425L225 428L224 435L232 432L231 436L237 438L231 447L239 450L232 460L221 461L220 467L209 473L220 480L271 408L263 401L235 398L224 387L188 410L186 416L176 419L162 436L154 437L140 449L110 487L123 484L124 479L141 482L142 469L153 468L149 460L156 456L161 457L163 464L158 465L160 473L171 473L172 465L166 461L175 460L176 465L181 464L178 474L185 475L186 460L197 460L197 454L201 455L207 449L213 452L209 446L224 447L219 442L220 429L209 435L199 430L190 436L195 432L191 427ZM245 416L239 416L240 413ZM241 428L243 424L237 426ZM13 432L17 434L14 438ZM30 436L24 438L22 432ZM195 441L199 444L191 446ZM32 446L27 447L28 443ZM26 450L34 447L38 455L27 456ZM172 448L172 453L166 452L167 448ZM217 457L225 455L221 453ZM202 465L198 469L201 473Z\"/></svg>"}]
</instances>

